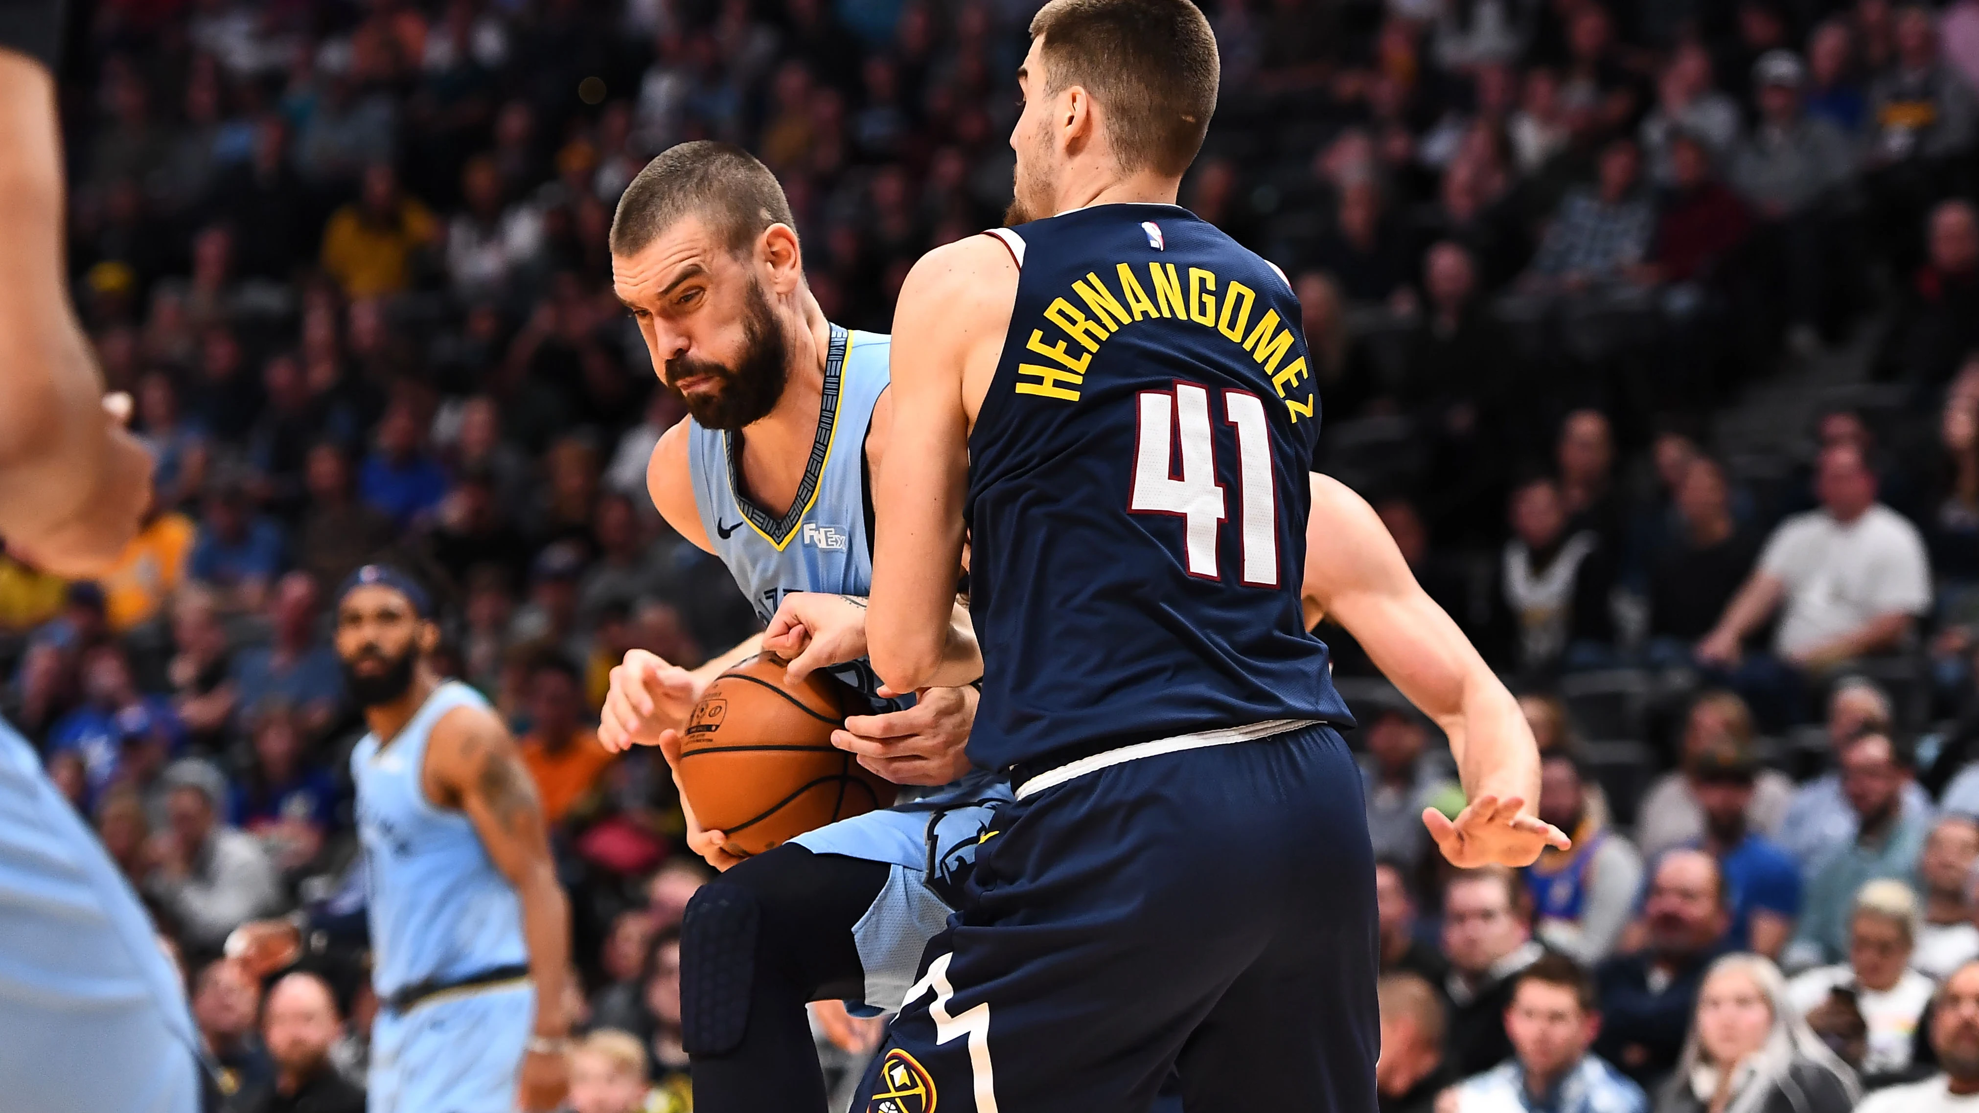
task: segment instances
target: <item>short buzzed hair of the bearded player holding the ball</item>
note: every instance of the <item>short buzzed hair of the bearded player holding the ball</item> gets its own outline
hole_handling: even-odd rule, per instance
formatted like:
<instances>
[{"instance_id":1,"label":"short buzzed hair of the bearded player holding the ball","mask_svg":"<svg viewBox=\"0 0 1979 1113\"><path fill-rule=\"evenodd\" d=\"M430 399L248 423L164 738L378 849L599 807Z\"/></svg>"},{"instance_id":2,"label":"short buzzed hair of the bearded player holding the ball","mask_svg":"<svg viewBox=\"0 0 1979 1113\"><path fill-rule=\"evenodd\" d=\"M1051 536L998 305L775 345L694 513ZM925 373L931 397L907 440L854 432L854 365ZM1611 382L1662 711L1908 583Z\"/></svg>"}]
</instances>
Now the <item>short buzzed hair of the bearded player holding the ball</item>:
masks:
<instances>
[{"instance_id":1,"label":"short buzzed hair of the bearded player holding the ball","mask_svg":"<svg viewBox=\"0 0 1979 1113\"><path fill-rule=\"evenodd\" d=\"M669 146L625 186L612 253L637 255L687 215L705 219L730 253L746 251L772 223L798 229L768 166L732 142L697 140Z\"/></svg>"}]
</instances>

